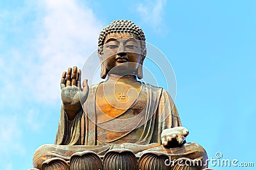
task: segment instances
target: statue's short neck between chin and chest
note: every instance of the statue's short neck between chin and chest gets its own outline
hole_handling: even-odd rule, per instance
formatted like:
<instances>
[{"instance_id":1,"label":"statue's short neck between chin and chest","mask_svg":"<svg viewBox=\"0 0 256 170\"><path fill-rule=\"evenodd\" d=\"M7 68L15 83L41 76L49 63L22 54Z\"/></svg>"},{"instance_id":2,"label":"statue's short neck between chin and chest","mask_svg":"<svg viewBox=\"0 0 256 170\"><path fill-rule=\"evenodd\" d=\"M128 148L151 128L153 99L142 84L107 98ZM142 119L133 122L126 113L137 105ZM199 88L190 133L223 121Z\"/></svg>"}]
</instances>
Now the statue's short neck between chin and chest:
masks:
<instances>
[{"instance_id":1,"label":"statue's short neck between chin and chest","mask_svg":"<svg viewBox=\"0 0 256 170\"><path fill-rule=\"evenodd\" d=\"M108 78L106 82L115 82L115 83L134 83L138 82L137 77L134 75L125 75L125 76L119 76L116 74L108 74Z\"/></svg>"}]
</instances>

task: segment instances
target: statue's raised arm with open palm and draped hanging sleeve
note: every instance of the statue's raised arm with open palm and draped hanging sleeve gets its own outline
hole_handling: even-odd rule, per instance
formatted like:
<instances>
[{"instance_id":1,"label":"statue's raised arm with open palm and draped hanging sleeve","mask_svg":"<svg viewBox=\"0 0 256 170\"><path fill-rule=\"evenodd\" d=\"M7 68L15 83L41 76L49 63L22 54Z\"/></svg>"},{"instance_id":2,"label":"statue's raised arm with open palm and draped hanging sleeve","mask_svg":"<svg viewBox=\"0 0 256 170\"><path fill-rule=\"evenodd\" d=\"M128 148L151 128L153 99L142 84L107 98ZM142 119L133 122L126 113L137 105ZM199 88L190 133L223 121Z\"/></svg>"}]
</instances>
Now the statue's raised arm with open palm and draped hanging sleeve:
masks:
<instances>
[{"instance_id":1,"label":"statue's raised arm with open palm and draped hanging sleeve","mask_svg":"<svg viewBox=\"0 0 256 170\"><path fill-rule=\"evenodd\" d=\"M68 68L68 72L63 72L60 87L62 105L55 144L79 145L82 105L88 97L88 83L84 80L81 88L81 70L73 67L73 71Z\"/></svg>"}]
</instances>

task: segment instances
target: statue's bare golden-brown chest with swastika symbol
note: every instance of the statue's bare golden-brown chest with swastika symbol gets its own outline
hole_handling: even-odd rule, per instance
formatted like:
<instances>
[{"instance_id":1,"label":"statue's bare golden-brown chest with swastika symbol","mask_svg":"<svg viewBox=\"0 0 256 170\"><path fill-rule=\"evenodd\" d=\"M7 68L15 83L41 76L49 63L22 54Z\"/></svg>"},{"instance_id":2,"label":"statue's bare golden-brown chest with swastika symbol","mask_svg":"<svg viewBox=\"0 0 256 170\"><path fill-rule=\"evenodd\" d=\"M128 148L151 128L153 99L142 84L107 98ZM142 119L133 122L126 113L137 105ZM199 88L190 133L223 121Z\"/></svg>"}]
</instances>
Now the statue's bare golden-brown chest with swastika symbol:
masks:
<instances>
[{"instance_id":1,"label":"statue's bare golden-brown chest with swastika symbol","mask_svg":"<svg viewBox=\"0 0 256 170\"><path fill-rule=\"evenodd\" d=\"M95 100L97 122L102 123L106 117L129 118L138 115L147 105L147 92L138 85L102 84L97 89Z\"/></svg>"}]
</instances>

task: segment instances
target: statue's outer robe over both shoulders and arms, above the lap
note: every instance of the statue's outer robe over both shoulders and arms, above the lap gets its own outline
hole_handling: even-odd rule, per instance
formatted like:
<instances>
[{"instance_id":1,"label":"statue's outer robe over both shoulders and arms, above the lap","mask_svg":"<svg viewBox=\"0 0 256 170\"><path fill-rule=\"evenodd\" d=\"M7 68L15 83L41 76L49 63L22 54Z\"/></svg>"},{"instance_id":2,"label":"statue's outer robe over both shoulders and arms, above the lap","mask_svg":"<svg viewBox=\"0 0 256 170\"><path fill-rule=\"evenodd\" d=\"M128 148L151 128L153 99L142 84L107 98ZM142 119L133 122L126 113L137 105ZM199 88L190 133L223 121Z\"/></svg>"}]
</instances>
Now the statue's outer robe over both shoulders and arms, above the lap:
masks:
<instances>
[{"instance_id":1,"label":"statue's outer robe over both shoulders and arms, above the lap","mask_svg":"<svg viewBox=\"0 0 256 170\"><path fill-rule=\"evenodd\" d=\"M141 85L141 91L147 94L147 104L141 113L128 120L113 118L109 122L112 125L126 125L122 129L128 127L127 132L129 133L132 133L136 127L143 126L143 132L135 143L138 145L149 145L150 143L161 145L161 132L164 129L181 126L179 114L172 97L166 90L145 83L141 83ZM79 111L74 120L68 120L67 114L61 108L56 145L92 146L102 144L97 140L97 123L95 123L97 122L95 97L98 86L99 84L90 87L88 99L83 105L83 110ZM136 125L134 128L129 127L131 122ZM120 128L112 129L112 131L117 130L120 131Z\"/></svg>"}]
</instances>

